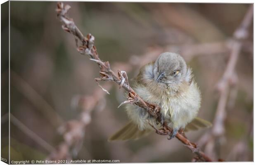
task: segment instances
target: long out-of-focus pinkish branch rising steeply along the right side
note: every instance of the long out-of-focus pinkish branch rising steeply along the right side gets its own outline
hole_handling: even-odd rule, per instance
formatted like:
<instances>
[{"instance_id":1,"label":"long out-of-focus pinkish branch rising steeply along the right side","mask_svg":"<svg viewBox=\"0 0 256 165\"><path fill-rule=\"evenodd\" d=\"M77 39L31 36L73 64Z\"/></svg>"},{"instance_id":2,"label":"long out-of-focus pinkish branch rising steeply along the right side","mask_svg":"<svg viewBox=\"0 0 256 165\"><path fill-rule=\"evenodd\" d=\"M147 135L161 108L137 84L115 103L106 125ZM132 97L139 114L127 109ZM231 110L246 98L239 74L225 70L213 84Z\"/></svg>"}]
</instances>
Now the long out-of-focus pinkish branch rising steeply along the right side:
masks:
<instances>
[{"instance_id":1,"label":"long out-of-focus pinkish branch rising steeply along the right side","mask_svg":"<svg viewBox=\"0 0 256 165\"><path fill-rule=\"evenodd\" d=\"M227 116L226 106L228 102L228 96L230 89L234 88L237 85L238 78L235 71L235 66L237 64L237 59L242 50L243 40L247 39L249 32L248 28L251 24L253 18L253 5L251 5L242 20L242 23L237 28L233 34L233 38L230 41L230 57L226 66L226 69L223 73L223 77L219 80L217 84L217 90L220 94L218 106L213 120L213 128L211 132L206 133L199 140L199 144L205 145L205 151L212 158L217 160L220 156L216 148L218 145L221 145L221 139L225 134L225 125L224 121ZM233 96L234 97L234 96ZM234 98L233 98L234 99ZM241 146L241 143L237 146ZM239 147L240 148L240 147Z\"/></svg>"}]
</instances>

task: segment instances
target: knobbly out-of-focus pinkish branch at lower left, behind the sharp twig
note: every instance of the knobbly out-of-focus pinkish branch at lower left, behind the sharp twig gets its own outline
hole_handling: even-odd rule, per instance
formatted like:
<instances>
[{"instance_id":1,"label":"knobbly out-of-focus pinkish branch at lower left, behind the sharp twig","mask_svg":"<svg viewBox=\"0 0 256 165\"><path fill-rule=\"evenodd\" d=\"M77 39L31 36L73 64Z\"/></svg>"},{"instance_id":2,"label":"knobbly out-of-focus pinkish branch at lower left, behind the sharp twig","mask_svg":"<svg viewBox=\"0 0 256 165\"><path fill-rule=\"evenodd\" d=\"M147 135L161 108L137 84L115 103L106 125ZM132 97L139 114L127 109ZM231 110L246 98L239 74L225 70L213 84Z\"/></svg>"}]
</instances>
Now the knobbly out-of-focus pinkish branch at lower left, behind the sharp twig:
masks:
<instances>
[{"instance_id":1,"label":"knobbly out-of-focus pinkish branch at lower left, behind the sharp twig","mask_svg":"<svg viewBox=\"0 0 256 165\"><path fill-rule=\"evenodd\" d=\"M106 89L110 87L111 85L104 86ZM105 94L106 92L97 89L92 96L78 96L76 100L72 101L73 107L78 105L82 107L82 112L77 120L70 120L59 127L59 132L63 134L64 142L50 154L47 160L71 160L72 157L77 156L83 145L86 126L91 122L91 112L99 105Z\"/></svg>"}]
</instances>

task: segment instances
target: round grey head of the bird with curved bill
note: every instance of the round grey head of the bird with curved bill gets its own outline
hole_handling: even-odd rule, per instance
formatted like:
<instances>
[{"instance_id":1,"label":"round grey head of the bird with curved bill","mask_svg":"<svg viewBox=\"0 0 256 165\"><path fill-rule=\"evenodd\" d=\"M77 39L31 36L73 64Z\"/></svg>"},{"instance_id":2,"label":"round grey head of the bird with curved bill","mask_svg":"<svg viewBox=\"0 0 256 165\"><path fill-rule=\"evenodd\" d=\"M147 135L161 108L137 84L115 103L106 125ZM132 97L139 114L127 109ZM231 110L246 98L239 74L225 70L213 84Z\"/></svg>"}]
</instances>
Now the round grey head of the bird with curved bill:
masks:
<instances>
[{"instance_id":1,"label":"round grey head of the bird with curved bill","mask_svg":"<svg viewBox=\"0 0 256 165\"><path fill-rule=\"evenodd\" d=\"M175 85L187 75L185 60L175 53L165 52L160 54L153 67L153 77L158 83Z\"/></svg>"}]
</instances>

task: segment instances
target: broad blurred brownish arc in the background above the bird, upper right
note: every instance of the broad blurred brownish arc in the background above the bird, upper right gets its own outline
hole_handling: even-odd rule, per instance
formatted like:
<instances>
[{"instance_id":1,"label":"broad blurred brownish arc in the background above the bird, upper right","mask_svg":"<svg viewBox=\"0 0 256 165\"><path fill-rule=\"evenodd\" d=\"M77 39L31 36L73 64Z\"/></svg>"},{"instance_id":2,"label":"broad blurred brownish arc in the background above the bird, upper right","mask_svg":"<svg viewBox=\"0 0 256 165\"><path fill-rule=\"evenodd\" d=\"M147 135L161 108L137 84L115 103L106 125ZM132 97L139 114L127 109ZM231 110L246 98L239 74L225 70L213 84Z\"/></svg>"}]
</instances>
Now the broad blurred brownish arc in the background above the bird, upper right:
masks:
<instances>
[{"instance_id":1,"label":"broad blurred brownish arc in the background above the bird, upper right","mask_svg":"<svg viewBox=\"0 0 256 165\"><path fill-rule=\"evenodd\" d=\"M148 6L148 8L153 10L154 15L162 26L166 24L176 26L199 42L213 42L225 38L223 32L216 28L209 19L185 5L180 5L179 3L156 3L154 6Z\"/></svg>"}]
</instances>

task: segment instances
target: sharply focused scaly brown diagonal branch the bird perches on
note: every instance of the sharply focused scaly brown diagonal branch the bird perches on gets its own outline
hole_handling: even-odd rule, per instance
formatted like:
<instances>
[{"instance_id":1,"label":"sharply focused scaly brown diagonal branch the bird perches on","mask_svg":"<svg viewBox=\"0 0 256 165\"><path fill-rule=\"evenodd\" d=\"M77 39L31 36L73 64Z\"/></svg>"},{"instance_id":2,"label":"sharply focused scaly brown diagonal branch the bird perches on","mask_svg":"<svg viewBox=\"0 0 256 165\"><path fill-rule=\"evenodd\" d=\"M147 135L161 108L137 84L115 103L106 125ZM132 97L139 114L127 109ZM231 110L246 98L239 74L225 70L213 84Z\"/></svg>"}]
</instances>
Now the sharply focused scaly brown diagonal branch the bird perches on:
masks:
<instances>
[{"instance_id":1,"label":"sharply focused scaly brown diagonal branch the bird perches on","mask_svg":"<svg viewBox=\"0 0 256 165\"><path fill-rule=\"evenodd\" d=\"M81 31L77 28L72 19L67 16L67 12L71 7L69 5L64 5L63 3L57 4L57 16L59 20L62 22L62 28L73 34L76 38L76 47L78 52L81 54L87 54L90 57L90 60L95 61L100 67L100 78L96 78L96 81L113 81L116 82L120 87L128 92L128 102L140 106L147 110L147 112L156 118L159 123L161 122L160 116L160 107L155 104L150 104L144 101L128 84L128 78L124 71L119 71L119 74L116 75L114 71L111 70L110 64L108 61L102 61L99 58L96 47L94 45L95 38L88 34L86 37L81 33ZM81 45L78 46L78 39L81 42ZM167 123L163 123L163 129L165 134L170 134L172 129L168 127ZM177 133L176 138L178 138L185 146L187 146L193 153L197 154L197 156L203 161L212 161L211 158L206 156L196 144L190 142L183 134Z\"/></svg>"}]
</instances>

